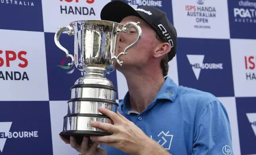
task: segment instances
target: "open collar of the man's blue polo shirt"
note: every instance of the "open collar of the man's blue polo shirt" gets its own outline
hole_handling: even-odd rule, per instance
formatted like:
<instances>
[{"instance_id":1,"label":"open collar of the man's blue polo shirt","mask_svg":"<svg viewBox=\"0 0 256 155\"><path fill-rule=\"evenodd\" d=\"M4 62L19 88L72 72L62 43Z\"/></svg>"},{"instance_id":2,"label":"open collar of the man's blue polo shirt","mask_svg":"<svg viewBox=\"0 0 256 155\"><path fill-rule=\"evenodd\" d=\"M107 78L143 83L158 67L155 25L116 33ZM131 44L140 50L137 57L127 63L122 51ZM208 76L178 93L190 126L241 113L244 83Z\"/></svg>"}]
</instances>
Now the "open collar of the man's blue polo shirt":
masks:
<instances>
[{"instance_id":1,"label":"open collar of the man's blue polo shirt","mask_svg":"<svg viewBox=\"0 0 256 155\"><path fill-rule=\"evenodd\" d=\"M172 102L175 101L177 95L178 85L170 78L165 77L165 83L161 87L160 91L155 96L155 100L159 99L167 99ZM130 102L129 92L126 93L124 99L120 102L121 110L124 113L128 113L130 111L130 107L128 103Z\"/></svg>"}]
</instances>

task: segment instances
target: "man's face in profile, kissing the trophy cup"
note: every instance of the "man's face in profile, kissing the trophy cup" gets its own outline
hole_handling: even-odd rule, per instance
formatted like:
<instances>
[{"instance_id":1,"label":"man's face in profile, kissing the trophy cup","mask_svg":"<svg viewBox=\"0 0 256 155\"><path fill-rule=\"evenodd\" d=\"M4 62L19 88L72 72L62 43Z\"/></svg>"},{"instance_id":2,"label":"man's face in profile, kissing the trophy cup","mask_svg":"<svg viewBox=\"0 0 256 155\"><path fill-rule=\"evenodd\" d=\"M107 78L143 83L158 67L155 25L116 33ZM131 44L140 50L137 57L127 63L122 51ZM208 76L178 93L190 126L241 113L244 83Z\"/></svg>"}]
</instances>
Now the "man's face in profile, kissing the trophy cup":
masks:
<instances>
[{"instance_id":1,"label":"man's face in profile, kissing the trophy cup","mask_svg":"<svg viewBox=\"0 0 256 155\"><path fill-rule=\"evenodd\" d=\"M156 39L155 31L142 19L135 16L128 16L125 17L120 23L124 25L130 21L135 23L138 21L140 22L139 26L142 29L142 38L140 39L139 43L127 51L126 55L122 55L120 57L120 61L123 61L122 67L120 67L116 62L115 67L118 70L134 67L142 68L143 66L147 65L149 60L153 58L153 51L155 50L157 43L159 43ZM129 28L128 32L120 34L120 39L116 49L116 56L119 53L124 52L126 47L136 41L137 34L138 32L136 32L135 28Z\"/></svg>"}]
</instances>

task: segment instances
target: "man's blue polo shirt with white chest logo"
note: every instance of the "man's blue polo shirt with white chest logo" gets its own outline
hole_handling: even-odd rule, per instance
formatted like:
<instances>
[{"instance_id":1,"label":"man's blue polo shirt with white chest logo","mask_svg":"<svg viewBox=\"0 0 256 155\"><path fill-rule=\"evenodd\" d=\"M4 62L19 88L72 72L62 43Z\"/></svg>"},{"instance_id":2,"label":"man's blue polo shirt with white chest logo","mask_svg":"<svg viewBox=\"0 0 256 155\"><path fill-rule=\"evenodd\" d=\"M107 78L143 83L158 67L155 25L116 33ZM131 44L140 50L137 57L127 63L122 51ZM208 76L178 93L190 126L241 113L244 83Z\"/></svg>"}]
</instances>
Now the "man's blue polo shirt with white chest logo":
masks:
<instances>
[{"instance_id":1,"label":"man's blue polo shirt with white chest logo","mask_svg":"<svg viewBox=\"0 0 256 155\"><path fill-rule=\"evenodd\" d=\"M211 93L178 86L167 77L142 113L132 111L128 103L129 93L118 112L173 155L234 155L226 109ZM127 155L102 147L108 155Z\"/></svg>"}]
</instances>

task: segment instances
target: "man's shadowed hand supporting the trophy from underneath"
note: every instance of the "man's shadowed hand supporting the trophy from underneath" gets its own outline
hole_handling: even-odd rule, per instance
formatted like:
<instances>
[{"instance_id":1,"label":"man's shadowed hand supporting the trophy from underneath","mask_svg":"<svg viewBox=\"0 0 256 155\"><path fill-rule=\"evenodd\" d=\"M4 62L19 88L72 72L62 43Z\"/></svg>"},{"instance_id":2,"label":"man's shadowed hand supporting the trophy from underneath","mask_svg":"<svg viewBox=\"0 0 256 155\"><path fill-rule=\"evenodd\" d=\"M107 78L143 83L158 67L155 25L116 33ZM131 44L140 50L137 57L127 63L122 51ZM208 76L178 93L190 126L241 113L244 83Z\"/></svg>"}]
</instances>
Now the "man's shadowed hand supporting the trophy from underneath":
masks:
<instances>
[{"instance_id":1,"label":"man's shadowed hand supporting the trophy from underneath","mask_svg":"<svg viewBox=\"0 0 256 155\"><path fill-rule=\"evenodd\" d=\"M89 138L84 137L81 145L76 143L74 136L70 136L70 140L60 136L60 138L66 143L70 144L71 147L80 152L81 155L107 155L107 152L102 147L99 147L97 143L93 142L89 145Z\"/></svg>"}]
</instances>

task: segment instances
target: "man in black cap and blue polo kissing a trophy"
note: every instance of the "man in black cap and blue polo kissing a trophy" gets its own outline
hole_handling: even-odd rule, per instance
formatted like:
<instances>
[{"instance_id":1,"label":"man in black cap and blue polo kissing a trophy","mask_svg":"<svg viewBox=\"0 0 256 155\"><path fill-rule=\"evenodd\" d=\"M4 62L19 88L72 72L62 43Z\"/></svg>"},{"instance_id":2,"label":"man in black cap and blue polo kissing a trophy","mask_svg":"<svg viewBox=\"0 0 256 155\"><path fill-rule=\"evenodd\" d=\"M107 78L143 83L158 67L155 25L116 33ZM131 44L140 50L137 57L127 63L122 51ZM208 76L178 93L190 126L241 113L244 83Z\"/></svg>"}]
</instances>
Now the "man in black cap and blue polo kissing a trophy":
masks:
<instances>
[{"instance_id":1,"label":"man in black cap and blue polo kissing a trophy","mask_svg":"<svg viewBox=\"0 0 256 155\"><path fill-rule=\"evenodd\" d=\"M125 2L113 1L102 9L101 19L122 24L140 22L140 42L120 58L122 67L115 66L126 77L129 91L117 114L99 109L114 125L91 123L113 132L111 136L91 136L91 146L86 137L81 146L73 137L62 140L82 155L233 154L229 118L219 100L165 77L177 46L176 30L166 14L150 6L134 10ZM120 34L118 53L136 37L133 28Z\"/></svg>"}]
</instances>

